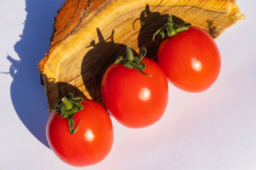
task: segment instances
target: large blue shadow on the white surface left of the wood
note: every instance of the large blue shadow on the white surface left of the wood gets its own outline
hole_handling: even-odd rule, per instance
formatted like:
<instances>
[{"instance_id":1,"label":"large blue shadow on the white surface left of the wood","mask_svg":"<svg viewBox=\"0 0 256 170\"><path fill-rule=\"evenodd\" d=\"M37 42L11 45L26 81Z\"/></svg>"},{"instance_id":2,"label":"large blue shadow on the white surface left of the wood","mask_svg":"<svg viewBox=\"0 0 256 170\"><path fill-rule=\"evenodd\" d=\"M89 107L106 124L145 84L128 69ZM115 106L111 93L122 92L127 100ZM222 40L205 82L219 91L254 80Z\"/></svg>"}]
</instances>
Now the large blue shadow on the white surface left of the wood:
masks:
<instances>
[{"instance_id":1,"label":"large blue shadow on the white surface left of the wood","mask_svg":"<svg viewBox=\"0 0 256 170\"><path fill-rule=\"evenodd\" d=\"M54 17L64 0L26 0L26 20L21 40L14 45L20 60L11 56L9 74L12 104L17 116L36 139L49 148L45 127L49 111L38 63L48 51Z\"/></svg>"}]
</instances>

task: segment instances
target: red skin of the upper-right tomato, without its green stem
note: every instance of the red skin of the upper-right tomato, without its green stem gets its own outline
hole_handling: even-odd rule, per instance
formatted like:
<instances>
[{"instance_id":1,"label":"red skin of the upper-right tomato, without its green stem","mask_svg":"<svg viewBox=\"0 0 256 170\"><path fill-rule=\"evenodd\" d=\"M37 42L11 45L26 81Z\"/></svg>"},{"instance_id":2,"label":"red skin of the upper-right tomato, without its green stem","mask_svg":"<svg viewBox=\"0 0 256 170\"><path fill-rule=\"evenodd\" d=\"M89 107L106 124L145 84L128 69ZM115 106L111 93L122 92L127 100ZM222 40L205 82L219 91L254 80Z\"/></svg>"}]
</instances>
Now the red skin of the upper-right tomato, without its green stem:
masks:
<instances>
[{"instance_id":1,"label":"red skin of the upper-right tomato, without its green stem","mask_svg":"<svg viewBox=\"0 0 256 170\"><path fill-rule=\"evenodd\" d=\"M207 31L189 26L164 39L157 51L157 62L169 82L188 92L207 90L218 78L221 56Z\"/></svg>"}]
</instances>

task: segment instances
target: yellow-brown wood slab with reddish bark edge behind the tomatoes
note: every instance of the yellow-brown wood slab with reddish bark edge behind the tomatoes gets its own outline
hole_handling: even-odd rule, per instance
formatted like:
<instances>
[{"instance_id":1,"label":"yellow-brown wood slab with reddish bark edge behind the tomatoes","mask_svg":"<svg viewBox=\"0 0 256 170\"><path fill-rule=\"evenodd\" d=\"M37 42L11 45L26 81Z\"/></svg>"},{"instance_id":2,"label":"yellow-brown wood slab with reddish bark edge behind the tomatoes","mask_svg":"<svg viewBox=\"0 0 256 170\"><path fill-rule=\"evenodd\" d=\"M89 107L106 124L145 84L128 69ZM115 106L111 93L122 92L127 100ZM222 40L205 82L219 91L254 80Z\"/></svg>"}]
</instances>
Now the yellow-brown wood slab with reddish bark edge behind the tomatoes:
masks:
<instances>
[{"instance_id":1,"label":"yellow-brown wood slab with reddish bark edge behind the tomatoes","mask_svg":"<svg viewBox=\"0 0 256 170\"><path fill-rule=\"evenodd\" d=\"M177 24L192 23L218 37L245 18L235 0L67 0L55 17L51 45L39 63L49 108L68 92L104 106L105 69L130 45L156 59L154 32L172 14ZM235 35L234 35L235 36Z\"/></svg>"}]
</instances>

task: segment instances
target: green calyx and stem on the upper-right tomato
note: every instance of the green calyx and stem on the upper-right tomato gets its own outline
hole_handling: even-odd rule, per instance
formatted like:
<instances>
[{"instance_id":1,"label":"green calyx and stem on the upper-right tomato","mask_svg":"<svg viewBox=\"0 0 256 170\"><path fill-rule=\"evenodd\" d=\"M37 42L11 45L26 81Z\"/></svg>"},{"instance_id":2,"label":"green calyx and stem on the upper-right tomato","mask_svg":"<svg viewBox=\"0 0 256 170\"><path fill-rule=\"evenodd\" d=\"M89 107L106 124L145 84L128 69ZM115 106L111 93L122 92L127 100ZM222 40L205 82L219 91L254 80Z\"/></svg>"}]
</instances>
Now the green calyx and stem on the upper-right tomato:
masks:
<instances>
[{"instance_id":1,"label":"green calyx and stem on the upper-right tomato","mask_svg":"<svg viewBox=\"0 0 256 170\"><path fill-rule=\"evenodd\" d=\"M154 33L153 41L157 34L159 34L158 40L160 40L160 38L163 39L166 34L168 37L172 37L180 31L188 30L189 26L191 26L190 23L183 23L181 26L178 26L177 24L172 22L172 15L169 15L168 22L162 28L160 28ZM166 31L166 34L165 34L165 31Z\"/></svg>"}]
</instances>

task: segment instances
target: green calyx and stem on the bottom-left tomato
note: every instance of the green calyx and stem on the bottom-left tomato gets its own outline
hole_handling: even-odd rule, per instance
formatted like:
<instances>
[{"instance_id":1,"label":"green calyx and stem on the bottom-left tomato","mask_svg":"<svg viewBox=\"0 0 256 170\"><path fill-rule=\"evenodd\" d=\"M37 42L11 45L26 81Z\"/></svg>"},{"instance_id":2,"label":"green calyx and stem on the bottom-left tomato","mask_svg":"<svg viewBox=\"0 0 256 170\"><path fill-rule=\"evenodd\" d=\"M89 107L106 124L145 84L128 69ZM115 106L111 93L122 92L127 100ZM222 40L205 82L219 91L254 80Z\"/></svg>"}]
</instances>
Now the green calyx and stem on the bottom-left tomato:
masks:
<instances>
[{"instance_id":1,"label":"green calyx and stem on the bottom-left tomato","mask_svg":"<svg viewBox=\"0 0 256 170\"><path fill-rule=\"evenodd\" d=\"M67 118L68 117L68 124L70 133L73 135L76 133L80 126L80 122L78 126L75 128L75 122L74 122L74 116L76 112L81 111L84 109L84 106L81 105L82 102L81 97L74 97L73 93L68 93L64 98L62 98L60 101L58 101L53 110L49 111L55 111L58 113L61 113L61 118Z\"/></svg>"}]
</instances>

